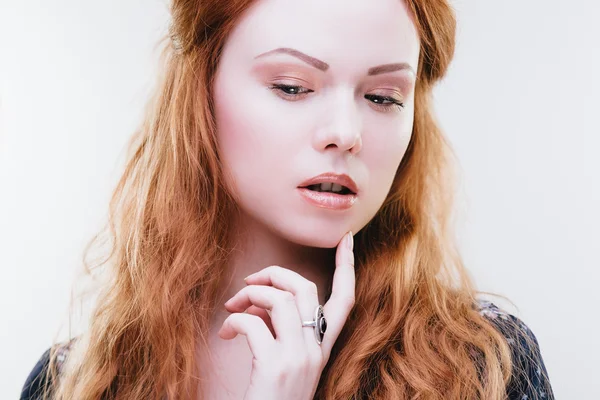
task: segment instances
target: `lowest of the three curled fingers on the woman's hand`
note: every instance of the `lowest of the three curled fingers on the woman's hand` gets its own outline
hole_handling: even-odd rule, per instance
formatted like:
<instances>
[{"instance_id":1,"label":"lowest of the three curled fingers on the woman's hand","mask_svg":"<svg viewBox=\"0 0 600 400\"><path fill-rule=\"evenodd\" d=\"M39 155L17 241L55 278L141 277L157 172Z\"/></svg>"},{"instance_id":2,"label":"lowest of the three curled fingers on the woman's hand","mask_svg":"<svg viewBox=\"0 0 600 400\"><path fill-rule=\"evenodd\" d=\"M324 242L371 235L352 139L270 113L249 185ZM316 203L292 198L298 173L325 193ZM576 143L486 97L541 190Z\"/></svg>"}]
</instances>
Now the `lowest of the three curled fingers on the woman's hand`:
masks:
<instances>
[{"instance_id":1,"label":"lowest of the three curled fingers on the woman's hand","mask_svg":"<svg viewBox=\"0 0 600 400\"><path fill-rule=\"evenodd\" d=\"M254 358L258 360L270 359L272 349L275 348L276 344L269 328L256 315L231 314L223 321L218 334L225 340L231 340L238 334L246 336L250 351L252 351Z\"/></svg>"}]
</instances>

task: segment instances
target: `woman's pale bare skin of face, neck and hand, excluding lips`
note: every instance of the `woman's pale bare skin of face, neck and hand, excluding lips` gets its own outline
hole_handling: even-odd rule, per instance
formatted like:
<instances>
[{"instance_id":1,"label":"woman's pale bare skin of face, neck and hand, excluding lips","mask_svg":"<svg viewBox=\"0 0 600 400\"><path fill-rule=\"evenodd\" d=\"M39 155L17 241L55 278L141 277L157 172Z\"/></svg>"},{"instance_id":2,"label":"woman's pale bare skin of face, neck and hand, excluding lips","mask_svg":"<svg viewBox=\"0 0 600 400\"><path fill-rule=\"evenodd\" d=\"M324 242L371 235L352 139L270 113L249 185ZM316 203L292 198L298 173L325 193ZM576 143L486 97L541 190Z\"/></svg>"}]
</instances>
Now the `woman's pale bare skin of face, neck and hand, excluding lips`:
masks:
<instances>
[{"instance_id":1,"label":"woman's pale bare skin of face, neck and hand, excluding lips","mask_svg":"<svg viewBox=\"0 0 600 400\"><path fill-rule=\"evenodd\" d=\"M214 100L242 214L221 288L229 302L211 323L213 357L198 355L204 398L313 397L354 304L354 254L344 239L377 213L406 152L418 57L400 0L259 0L238 21ZM350 209L298 195L301 182L323 172L356 182ZM328 322L321 345L301 326L319 304Z\"/></svg>"}]
</instances>

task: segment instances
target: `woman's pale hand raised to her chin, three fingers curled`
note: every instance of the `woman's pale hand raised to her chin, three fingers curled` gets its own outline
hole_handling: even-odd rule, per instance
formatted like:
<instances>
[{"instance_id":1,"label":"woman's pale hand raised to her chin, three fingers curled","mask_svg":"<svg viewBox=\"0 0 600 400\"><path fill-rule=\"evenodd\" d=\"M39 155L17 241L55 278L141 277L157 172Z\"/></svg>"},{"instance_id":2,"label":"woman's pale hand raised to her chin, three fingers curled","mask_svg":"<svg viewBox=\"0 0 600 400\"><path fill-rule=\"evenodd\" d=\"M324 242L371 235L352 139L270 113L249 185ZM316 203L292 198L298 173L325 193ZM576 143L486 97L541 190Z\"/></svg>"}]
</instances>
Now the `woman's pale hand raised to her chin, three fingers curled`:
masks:
<instances>
[{"instance_id":1,"label":"woman's pale hand raised to her chin, three fingers curled","mask_svg":"<svg viewBox=\"0 0 600 400\"><path fill-rule=\"evenodd\" d=\"M350 244L346 243L349 239ZM329 301L323 306L327 329L319 345L314 319L319 305L316 285L279 266L266 267L246 278L225 308L232 312L219 336L230 340L245 335L253 354L250 385L245 400L312 399L331 349L354 306L355 276L352 232L338 243ZM248 310L248 313L244 311ZM270 312L272 330L267 326Z\"/></svg>"}]
</instances>

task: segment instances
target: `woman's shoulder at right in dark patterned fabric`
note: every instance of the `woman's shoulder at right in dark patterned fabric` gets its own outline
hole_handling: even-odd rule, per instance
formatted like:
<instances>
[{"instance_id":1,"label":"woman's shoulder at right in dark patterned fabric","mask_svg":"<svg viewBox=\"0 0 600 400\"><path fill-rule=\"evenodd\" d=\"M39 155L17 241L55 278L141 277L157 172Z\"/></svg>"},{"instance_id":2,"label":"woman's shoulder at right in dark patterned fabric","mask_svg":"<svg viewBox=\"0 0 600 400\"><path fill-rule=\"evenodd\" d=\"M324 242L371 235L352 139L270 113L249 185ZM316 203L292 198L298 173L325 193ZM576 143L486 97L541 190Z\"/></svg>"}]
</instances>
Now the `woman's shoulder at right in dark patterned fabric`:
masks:
<instances>
[{"instance_id":1,"label":"woman's shoulder at right in dark patterned fabric","mask_svg":"<svg viewBox=\"0 0 600 400\"><path fill-rule=\"evenodd\" d=\"M554 399L548 372L533 331L519 318L494 303L477 304L484 316L506 338L513 361L512 378L507 387L508 399Z\"/></svg>"}]
</instances>

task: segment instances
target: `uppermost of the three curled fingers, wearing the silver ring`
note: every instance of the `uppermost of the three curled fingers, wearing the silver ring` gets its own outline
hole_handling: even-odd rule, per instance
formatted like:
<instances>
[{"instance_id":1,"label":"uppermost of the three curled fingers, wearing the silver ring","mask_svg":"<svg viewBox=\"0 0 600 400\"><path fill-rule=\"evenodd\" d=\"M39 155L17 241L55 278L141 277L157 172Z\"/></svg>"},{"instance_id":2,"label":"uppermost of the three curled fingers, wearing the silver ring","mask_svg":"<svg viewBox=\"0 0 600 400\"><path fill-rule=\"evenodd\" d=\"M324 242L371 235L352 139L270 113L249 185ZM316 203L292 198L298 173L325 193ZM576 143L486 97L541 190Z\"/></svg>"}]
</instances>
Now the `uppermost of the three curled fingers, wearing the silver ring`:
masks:
<instances>
[{"instance_id":1,"label":"uppermost of the three curled fingers, wearing the silver ring","mask_svg":"<svg viewBox=\"0 0 600 400\"><path fill-rule=\"evenodd\" d=\"M272 265L250 275L245 280L247 284L271 285L292 293L296 298L296 307L302 320L312 321L314 319L315 309L320 304L317 285L297 272L278 265ZM298 323L301 324L301 322ZM305 343L313 347L315 351L319 349L320 352L320 346L315 339L314 328L303 328L302 332Z\"/></svg>"}]
</instances>

